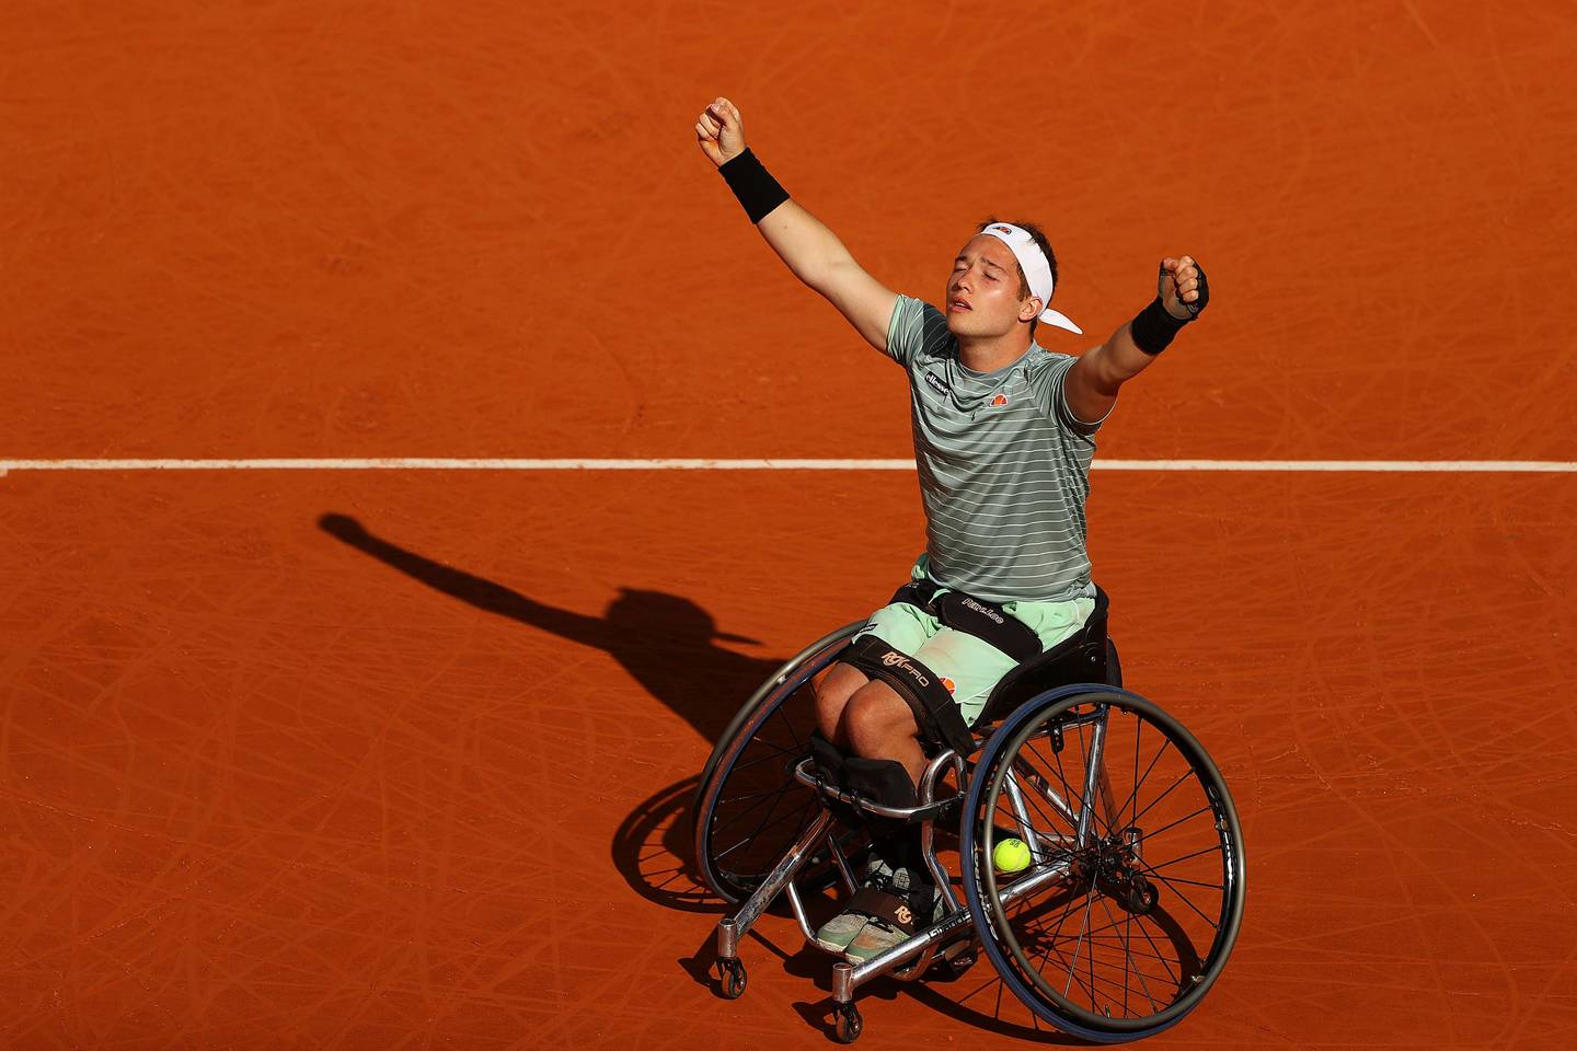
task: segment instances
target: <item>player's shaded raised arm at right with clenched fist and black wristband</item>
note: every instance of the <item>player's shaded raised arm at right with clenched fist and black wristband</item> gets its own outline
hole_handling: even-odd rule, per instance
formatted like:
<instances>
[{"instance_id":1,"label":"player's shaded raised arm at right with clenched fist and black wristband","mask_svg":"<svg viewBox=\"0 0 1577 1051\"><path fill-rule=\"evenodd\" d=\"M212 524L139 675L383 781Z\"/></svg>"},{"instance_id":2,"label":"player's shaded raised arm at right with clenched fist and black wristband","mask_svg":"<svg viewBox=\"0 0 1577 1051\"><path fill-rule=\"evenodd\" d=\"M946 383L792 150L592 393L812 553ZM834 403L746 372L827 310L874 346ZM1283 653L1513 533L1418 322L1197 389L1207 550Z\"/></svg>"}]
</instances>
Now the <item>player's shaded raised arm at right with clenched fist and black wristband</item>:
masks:
<instances>
[{"instance_id":1,"label":"player's shaded raised arm at right with clenched fist and black wristband","mask_svg":"<svg viewBox=\"0 0 1577 1051\"><path fill-rule=\"evenodd\" d=\"M1172 337L1210 303L1205 271L1191 255L1161 260L1156 298L1112 339L1080 355L1063 381L1063 397L1077 419L1105 419L1118 389L1150 367Z\"/></svg>"}]
</instances>

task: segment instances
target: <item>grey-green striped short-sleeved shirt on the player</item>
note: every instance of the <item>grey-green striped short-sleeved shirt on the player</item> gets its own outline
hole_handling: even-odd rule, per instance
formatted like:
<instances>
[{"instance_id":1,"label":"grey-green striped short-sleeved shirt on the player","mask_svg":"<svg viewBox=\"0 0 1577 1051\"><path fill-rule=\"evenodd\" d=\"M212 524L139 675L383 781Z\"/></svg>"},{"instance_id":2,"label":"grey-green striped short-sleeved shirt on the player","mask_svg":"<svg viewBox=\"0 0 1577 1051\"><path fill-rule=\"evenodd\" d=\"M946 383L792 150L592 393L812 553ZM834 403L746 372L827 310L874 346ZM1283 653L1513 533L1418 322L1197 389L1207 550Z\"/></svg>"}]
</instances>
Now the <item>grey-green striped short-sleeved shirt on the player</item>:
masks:
<instances>
[{"instance_id":1,"label":"grey-green striped short-sleeved shirt on the player","mask_svg":"<svg viewBox=\"0 0 1577 1051\"><path fill-rule=\"evenodd\" d=\"M908 296L886 353L908 370L932 578L990 602L1093 596L1085 500L1101 424L1076 419L1063 397L1077 358L1031 345L975 372L941 310Z\"/></svg>"}]
</instances>

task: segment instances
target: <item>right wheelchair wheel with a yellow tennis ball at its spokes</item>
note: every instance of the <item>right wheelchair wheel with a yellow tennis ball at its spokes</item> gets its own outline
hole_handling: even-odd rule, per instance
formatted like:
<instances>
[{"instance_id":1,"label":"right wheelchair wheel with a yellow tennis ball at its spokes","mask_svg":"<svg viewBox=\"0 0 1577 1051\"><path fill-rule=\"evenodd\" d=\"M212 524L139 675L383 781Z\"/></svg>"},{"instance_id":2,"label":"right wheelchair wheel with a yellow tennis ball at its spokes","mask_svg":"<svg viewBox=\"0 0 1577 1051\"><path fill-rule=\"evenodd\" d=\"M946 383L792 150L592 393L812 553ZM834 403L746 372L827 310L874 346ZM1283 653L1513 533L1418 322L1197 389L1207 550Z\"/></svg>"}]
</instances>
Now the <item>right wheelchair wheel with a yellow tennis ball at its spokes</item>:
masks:
<instances>
[{"instance_id":1,"label":"right wheelchair wheel with a yellow tennis ball at its spokes","mask_svg":"<svg viewBox=\"0 0 1577 1051\"><path fill-rule=\"evenodd\" d=\"M1028 868L997 871L1006 837L1030 846ZM1087 1040L1175 1026L1238 936L1243 832L1221 772L1175 719L1126 690L1061 687L1009 715L970 780L960 851L965 900L1003 982Z\"/></svg>"}]
</instances>

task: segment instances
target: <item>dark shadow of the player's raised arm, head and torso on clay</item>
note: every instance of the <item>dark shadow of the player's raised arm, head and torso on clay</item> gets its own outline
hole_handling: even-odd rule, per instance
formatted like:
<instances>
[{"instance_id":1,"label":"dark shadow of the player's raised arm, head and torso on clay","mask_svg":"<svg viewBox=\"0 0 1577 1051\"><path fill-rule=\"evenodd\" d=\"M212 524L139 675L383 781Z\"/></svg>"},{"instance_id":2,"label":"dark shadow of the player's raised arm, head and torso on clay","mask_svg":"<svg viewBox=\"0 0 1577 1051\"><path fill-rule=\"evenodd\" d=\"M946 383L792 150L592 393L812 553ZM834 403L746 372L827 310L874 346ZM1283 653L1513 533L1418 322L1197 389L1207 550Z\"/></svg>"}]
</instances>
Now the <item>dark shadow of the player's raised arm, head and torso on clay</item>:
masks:
<instances>
[{"instance_id":1,"label":"dark shadow of the player's raised arm, head and torso on clay","mask_svg":"<svg viewBox=\"0 0 1577 1051\"><path fill-rule=\"evenodd\" d=\"M621 588L602 616L587 616L405 550L369 533L350 515L325 514L317 525L334 539L434 591L606 651L651 696L673 709L706 741L718 739L740 703L779 663L719 646L718 643L759 643L719 632L711 613L683 596Z\"/></svg>"}]
</instances>

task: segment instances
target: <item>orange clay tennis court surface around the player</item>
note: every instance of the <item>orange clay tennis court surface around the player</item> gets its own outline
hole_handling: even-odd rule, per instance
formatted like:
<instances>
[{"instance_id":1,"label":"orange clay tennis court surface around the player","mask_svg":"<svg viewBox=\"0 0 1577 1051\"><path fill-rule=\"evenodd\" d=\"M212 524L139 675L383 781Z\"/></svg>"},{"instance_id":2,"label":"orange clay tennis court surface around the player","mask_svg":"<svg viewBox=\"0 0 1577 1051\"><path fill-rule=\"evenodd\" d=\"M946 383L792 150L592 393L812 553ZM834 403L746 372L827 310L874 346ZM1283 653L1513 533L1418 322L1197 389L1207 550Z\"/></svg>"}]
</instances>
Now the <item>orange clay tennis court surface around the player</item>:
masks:
<instances>
[{"instance_id":1,"label":"orange clay tennis court surface around the player","mask_svg":"<svg viewBox=\"0 0 1577 1051\"><path fill-rule=\"evenodd\" d=\"M727 93L896 288L1042 221L1055 350L1199 257L1101 455L1574 460L1574 63L1558 3L17 0L0 457L905 455L694 145ZM1574 477L1096 473L1247 838L1150 1046L1572 1045ZM0 477L0 1046L826 1046L784 917L708 990L688 796L921 525L904 473ZM986 963L859 1005L1064 1042Z\"/></svg>"}]
</instances>

